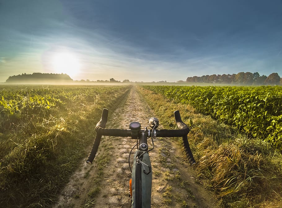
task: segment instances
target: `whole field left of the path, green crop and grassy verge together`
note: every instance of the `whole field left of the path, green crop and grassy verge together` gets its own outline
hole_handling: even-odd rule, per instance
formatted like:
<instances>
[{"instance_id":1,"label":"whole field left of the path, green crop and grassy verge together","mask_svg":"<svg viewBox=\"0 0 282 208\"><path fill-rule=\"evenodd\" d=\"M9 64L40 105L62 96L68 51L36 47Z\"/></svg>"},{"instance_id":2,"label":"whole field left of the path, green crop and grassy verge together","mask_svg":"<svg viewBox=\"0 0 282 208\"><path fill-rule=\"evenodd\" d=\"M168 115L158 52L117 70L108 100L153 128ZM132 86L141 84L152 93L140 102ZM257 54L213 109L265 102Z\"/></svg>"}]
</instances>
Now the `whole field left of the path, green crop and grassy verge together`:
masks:
<instances>
[{"instance_id":1,"label":"whole field left of the path, green crop and grassy verge together","mask_svg":"<svg viewBox=\"0 0 282 208\"><path fill-rule=\"evenodd\" d=\"M0 207L52 203L130 86L1 86Z\"/></svg>"}]
</instances>

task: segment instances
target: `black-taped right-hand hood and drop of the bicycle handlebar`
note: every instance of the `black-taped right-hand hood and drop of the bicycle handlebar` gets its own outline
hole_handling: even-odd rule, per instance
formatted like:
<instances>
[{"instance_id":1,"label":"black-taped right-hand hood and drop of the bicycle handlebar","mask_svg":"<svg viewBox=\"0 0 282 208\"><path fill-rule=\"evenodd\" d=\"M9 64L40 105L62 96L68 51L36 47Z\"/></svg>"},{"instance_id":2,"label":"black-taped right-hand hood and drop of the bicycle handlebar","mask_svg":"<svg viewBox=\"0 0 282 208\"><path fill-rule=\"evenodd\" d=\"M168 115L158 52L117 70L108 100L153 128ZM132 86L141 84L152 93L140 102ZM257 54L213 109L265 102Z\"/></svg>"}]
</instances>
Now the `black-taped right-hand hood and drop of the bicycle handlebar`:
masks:
<instances>
[{"instance_id":1,"label":"black-taped right-hand hood and drop of the bicycle handlebar","mask_svg":"<svg viewBox=\"0 0 282 208\"><path fill-rule=\"evenodd\" d=\"M188 129L188 132L189 132L188 126L186 124L184 124L183 121L181 120L181 116L180 116L179 111L174 111L174 118L175 118L175 123L176 123L176 125L178 126L179 129ZM196 162L195 162L195 159L193 157L192 151L190 149L187 134L182 136L183 146L184 146L184 150L186 152L186 156L188 158L190 165L194 166L194 165L196 165Z\"/></svg>"}]
</instances>

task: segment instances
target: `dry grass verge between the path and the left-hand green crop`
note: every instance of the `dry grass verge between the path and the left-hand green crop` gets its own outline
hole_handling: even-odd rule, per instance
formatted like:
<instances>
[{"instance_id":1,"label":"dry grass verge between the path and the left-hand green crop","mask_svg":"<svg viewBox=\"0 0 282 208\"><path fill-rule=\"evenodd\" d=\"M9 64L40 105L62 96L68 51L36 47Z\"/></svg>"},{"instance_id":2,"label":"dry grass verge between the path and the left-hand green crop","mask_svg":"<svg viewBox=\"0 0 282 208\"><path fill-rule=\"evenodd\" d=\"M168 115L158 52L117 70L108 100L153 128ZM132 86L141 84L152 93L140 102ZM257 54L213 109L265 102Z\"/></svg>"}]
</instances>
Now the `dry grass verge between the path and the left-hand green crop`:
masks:
<instances>
[{"instance_id":1,"label":"dry grass verge between the path and the left-hand green crop","mask_svg":"<svg viewBox=\"0 0 282 208\"><path fill-rule=\"evenodd\" d=\"M64 92L62 86L58 90ZM28 123L20 120L17 128L2 133L0 207L49 206L88 154L85 148L95 137L93 125L99 121L101 109L114 109L125 90L113 90L103 98L76 95L65 105L50 108L46 116L24 115L31 118Z\"/></svg>"}]
</instances>

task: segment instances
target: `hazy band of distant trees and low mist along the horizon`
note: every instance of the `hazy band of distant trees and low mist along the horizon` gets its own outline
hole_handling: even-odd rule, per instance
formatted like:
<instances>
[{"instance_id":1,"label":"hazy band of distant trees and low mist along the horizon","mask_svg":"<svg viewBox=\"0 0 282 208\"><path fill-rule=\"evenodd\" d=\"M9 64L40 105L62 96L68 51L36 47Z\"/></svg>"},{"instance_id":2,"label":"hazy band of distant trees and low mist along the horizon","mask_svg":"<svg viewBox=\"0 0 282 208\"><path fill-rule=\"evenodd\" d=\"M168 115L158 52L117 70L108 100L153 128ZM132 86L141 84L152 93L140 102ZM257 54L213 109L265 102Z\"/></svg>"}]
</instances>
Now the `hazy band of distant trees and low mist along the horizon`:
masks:
<instances>
[{"instance_id":1,"label":"hazy band of distant trees and low mist along the horizon","mask_svg":"<svg viewBox=\"0 0 282 208\"><path fill-rule=\"evenodd\" d=\"M110 78L109 80L73 80L67 74L49 74L49 73L33 73L33 74L21 74L9 76L3 84L10 85L115 85L115 84L130 84L133 83L130 80L115 80ZM238 74L223 74L223 75L204 75L204 76L193 76L187 77L184 80L178 80L170 83L166 80L153 81L153 82L134 82L134 83L148 83L148 84L160 84L160 85L190 85L195 83L196 85L282 85L282 78L278 73L271 73L269 76L260 75L258 72L239 72Z\"/></svg>"}]
</instances>

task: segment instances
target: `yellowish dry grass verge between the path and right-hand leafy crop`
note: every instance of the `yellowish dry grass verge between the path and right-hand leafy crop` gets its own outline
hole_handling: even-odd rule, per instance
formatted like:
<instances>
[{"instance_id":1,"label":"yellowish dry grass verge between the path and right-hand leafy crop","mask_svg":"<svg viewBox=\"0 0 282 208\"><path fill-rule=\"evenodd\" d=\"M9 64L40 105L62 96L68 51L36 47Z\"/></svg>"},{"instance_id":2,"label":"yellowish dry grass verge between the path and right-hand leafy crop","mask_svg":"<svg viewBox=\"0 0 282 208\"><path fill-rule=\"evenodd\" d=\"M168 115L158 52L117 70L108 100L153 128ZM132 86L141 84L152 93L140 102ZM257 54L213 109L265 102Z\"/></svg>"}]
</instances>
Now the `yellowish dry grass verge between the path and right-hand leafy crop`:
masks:
<instances>
[{"instance_id":1,"label":"yellowish dry grass verge between the path and right-hand leafy crop","mask_svg":"<svg viewBox=\"0 0 282 208\"><path fill-rule=\"evenodd\" d=\"M138 87L165 128L176 128L179 110L191 129L188 141L196 171L222 207L282 207L282 156L267 142L249 139L235 128ZM180 146L181 139L175 139ZM184 150L183 150L184 155Z\"/></svg>"}]
</instances>

